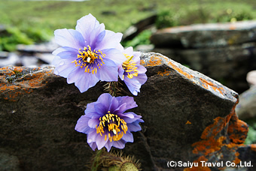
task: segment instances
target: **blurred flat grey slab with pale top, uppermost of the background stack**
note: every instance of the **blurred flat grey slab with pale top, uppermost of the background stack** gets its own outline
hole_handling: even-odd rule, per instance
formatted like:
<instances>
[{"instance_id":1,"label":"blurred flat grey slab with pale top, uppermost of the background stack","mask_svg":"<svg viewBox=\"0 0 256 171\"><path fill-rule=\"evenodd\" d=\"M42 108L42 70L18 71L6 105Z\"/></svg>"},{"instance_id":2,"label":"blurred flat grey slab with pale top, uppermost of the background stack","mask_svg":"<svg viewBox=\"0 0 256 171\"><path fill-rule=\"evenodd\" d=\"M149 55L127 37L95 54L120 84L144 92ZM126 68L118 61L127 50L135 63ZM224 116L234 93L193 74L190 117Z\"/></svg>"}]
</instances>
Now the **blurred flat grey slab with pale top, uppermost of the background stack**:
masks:
<instances>
[{"instance_id":1,"label":"blurred flat grey slab with pale top, uppermost of the background stack","mask_svg":"<svg viewBox=\"0 0 256 171\"><path fill-rule=\"evenodd\" d=\"M163 28L151 36L155 46L203 48L229 46L256 40L256 21L236 23L206 23Z\"/></svg>"}]
</instances>

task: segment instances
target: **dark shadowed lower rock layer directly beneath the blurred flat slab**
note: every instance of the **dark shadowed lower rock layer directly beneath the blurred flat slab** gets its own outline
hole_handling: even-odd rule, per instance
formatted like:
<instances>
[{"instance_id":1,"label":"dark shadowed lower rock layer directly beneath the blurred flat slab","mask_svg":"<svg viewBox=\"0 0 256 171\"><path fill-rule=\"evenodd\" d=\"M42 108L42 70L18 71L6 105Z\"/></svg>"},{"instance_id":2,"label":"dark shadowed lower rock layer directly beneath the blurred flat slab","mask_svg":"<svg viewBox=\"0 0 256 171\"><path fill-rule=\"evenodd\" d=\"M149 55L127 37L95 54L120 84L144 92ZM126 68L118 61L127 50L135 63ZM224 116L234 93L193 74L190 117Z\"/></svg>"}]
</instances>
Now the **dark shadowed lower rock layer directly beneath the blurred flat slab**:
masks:
<instances>
[{"instance_id":1,"label":"dark shadowed lower rock layer directly beneath the blurred flat slab","mask_svg":"<svg viewBox=\"0 0 256 171\"><path fill-rule=\"evenodd\" d=\"M256 68L254 43L201 49L154 48L153 50L193 70L200 71L239 93L249 88L245 80L246 75Z\"/></svg>"}]
</instances>

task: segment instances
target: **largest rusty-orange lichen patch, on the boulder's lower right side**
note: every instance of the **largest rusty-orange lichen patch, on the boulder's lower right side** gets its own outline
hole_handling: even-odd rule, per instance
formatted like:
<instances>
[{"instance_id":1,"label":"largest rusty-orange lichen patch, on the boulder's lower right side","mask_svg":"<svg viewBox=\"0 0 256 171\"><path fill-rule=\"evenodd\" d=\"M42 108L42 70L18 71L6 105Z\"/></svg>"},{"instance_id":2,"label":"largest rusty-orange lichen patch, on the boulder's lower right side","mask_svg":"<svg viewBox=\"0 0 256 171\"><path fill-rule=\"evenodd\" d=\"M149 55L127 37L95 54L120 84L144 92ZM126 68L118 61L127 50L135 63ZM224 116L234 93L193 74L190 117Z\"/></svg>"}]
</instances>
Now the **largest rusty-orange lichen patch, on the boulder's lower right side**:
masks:
<instances>
[{"instance_id":1,"label":"largest rusty-orange lichen patch, on the boulder's lower right side","mask_svg":"<svg viewBox=\"0 0 256 171\"><path fill-rule=\"evenodd\" d=\"M238 101L236 101L236 104L237 103ZM240 162L238 158L239 153L236 151L236 149L239 146L242 146L242 142L245 141L248 127L243 121L240 121L237 118L235 107L236 105L234 105L231 113L226 117L215 118L214 123L203 130L201 140L199 142L194 142L192 145L194 147L192 152L194 154L200 155L200 157L197 160L194 160L194 162L198 162L198 160L202 160L202 158L207 159L206 157L215 155L217 151L219 154L221 154L222 148L226 148L226 150L228 148L230 154L233 154L233 163L238 164ZM227 137L221 136L223 134L221 132L223 131L227 131ZM252 148L256 149L256 145ZM218 160L223 159L223 154L219 156L221 158ZM197 168L197 170L200 169ZM205 169L207 170L208 168ZM186 168L185 170L195 169Z\"/></svg>"}]
</instances>

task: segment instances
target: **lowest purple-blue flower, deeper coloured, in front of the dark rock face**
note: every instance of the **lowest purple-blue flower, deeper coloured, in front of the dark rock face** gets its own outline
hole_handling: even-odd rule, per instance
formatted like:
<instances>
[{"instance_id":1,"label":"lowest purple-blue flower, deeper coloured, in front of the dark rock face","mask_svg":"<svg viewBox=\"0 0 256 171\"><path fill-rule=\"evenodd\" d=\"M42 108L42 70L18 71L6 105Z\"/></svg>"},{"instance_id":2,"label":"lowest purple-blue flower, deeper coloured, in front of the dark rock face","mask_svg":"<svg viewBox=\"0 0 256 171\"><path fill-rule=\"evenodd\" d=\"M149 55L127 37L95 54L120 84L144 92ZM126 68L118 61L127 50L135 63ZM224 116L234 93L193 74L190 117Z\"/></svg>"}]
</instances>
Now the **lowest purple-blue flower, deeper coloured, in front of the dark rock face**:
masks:
<instances>
[{"instance_id":1,"label":"lowest purple-blue flower, deeper coloured, in front of the dark rock face","mask_svg":"<svg viewBox=\"0 0 256 171\"><path fill-rule=\"evenodd\" d=\"M108 93L99 96L96 102L87 104L85 115L78 119L75 130L87 134L90 147L110 151L111 147L124 148L126 142L133 142L133 133L142 128L142 116L133 112L138 107L132 97L112 97Z\"/></svg>"}]
</instances>

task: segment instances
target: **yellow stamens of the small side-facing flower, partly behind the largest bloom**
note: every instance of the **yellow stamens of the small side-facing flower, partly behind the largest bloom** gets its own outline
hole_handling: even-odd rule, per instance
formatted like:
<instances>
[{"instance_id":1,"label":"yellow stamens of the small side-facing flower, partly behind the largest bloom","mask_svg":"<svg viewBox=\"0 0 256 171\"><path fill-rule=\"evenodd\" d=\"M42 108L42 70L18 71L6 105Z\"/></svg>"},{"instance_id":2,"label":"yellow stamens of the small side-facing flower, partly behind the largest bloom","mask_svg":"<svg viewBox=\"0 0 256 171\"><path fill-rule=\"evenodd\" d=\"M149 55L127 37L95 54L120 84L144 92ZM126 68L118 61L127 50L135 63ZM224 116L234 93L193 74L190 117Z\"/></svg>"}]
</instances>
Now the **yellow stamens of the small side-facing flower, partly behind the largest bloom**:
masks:
<instances>
[{"instance_id":1,"label":"yellow stamens of the small side-facing flower, partly behind the largest bloom","mask_svg":"<svg viewBox=\"0 0 256 171\"><path fill-rule=\"evenodd\" d=\"M133 61L133 55L127 55L127 54L123 54L125 55L125 57L127 58L127 60L125 62L123 62L122 68L126 73L126 77L132 79L133 77L137 77L138 76L138 71L137 71L137 67L136 67L136 62ZM124 78L124 75L123 75Z\"/></svg>"}]
</instances>

